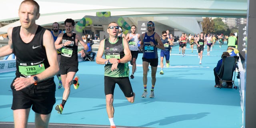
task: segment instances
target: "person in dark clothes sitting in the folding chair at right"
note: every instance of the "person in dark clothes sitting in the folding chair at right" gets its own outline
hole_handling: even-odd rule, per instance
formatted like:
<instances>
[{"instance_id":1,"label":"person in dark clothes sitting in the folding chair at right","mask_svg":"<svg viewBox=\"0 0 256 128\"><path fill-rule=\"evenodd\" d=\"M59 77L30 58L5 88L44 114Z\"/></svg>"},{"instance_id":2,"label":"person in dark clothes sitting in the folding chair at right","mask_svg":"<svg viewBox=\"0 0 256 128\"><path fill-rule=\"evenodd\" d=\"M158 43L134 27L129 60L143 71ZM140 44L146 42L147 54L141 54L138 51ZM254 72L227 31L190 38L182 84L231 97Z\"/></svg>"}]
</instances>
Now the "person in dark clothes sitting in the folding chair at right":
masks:
<instances>
[{"instance_id":1,"label":"person in dark clothes sitting in the folding chair at right","mask_svg":"<svg viewBox=\"0 0 256 128\"><path fill-rule=\"evenodd\" d=\"M217 66L213 69L214 71L214 76L215 76L215 86L216 88L219 88L220 85L220 78L217 76L217 72L219 72L220 70L220 67L221 67L221 64L222 64L222 57L223 56L230 56L230 54L228 52L223 52L222 56L221 56L221 59L218 61L218 64ZM232 80L232 79L231 79ZM226 82L227 85L228 85L228 88L232 88L232 82Z\"/></svg>"}]
</instances>

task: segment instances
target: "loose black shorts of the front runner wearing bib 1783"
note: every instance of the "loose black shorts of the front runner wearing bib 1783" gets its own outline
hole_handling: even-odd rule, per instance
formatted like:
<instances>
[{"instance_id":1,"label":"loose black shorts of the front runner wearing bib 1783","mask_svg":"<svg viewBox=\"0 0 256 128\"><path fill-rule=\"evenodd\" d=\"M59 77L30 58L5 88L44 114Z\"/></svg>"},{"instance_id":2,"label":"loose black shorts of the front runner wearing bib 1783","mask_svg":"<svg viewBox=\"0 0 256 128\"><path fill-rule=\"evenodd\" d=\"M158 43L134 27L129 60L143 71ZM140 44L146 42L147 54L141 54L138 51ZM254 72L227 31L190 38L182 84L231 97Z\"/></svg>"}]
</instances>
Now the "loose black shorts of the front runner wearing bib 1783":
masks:
<instances>
[{"instance_id":1,"label":"loose black shorts of the front runner wearing bib 1783","mask_svg":"<svg viewBox=\"0 0 256 128\"><path fill-rule=\"evenodd\" d=\"M46 82L39 82L36 86L32 84L19 91L16 91L12 84L12 110L27 109L32 106L32 110L39 114L46 115L52 112L52 107L56 102L56 85L53 77Z\"/></svg>"}]
</instances>

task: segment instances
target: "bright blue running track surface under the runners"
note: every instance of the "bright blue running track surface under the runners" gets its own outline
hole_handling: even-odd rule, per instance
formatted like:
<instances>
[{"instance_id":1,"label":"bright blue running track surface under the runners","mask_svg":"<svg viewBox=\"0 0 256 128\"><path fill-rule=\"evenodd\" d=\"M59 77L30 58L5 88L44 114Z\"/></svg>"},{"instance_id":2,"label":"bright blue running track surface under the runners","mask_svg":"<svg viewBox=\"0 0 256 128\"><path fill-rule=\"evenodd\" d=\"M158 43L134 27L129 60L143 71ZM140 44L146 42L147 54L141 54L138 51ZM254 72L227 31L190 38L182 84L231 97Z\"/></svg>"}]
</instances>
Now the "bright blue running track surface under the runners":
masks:
<instances>
[{"instance_id":1,"label":"bright blue running track surface under the runners","mask_svg":"<svg viewBox=\"0 0 256 128\"><path fill-rule=\"evenodd\" d=\"M147 98L141 98L144 88L142 54L139 54L134 79L130 79L136 94L135 102L128 102L120 88L115 88L114 122L117 128L241 128L239 89L214 88L213 68L226 48L227 45L222 45L222 48L216 45L210 56L207 56L207 48L204 48L202 64L199 64L196 48L191 52L188 44L186 56L182 57L178 46L175 46L170 56L170 67L166 68L164 58L164 75L159 73L158 50L154 98L149 98L149 94ZM131 68L130 65L130 71ZM150 71L148 90L151 88ZM76 75L80 77L80 87L75 90L71 85L70 96L62 115L53 109L49 127L109 128L104 95L104 65L96 64L95 61L79 62L79 71ZM0 74L0 128L13 124L10 84L14 77L14 72ZM56 76L54 80L57 85ZM235 84L238 86L238 79L235 79ZM61 103L63 91L63 88L58 89L56 86L54 108ZM28 122L34 123L32 110Z\"/></svg>"}]
</instances>

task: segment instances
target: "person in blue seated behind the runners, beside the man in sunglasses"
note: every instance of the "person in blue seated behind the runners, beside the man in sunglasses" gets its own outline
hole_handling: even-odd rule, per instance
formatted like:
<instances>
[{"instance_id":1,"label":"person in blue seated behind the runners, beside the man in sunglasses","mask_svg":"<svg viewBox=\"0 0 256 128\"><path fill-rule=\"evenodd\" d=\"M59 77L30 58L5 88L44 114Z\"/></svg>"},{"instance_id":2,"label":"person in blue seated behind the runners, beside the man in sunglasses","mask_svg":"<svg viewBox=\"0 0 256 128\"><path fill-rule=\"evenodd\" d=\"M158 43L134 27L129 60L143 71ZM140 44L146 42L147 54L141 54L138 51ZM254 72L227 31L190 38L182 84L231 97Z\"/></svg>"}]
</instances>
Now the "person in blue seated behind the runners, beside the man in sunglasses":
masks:
<instances>
[{"instance_id":1,"label":"person in blue seated behind the runners, beside the man in sunglasses","mask_svg":"<svg viewBox=\"0 0 256 128\"><path fill-rule=\"evenodd\" d=\"M92 45L94 44L92 39L87 38L86 39L86 44L88 46L88 50L84 51L85 56L84 56L84 61L89 60L89 61L94 61L94 57L96 56L95 52L92 52ZM78 52L79 53L79 52Z\"/></svg>"}]
</instances>

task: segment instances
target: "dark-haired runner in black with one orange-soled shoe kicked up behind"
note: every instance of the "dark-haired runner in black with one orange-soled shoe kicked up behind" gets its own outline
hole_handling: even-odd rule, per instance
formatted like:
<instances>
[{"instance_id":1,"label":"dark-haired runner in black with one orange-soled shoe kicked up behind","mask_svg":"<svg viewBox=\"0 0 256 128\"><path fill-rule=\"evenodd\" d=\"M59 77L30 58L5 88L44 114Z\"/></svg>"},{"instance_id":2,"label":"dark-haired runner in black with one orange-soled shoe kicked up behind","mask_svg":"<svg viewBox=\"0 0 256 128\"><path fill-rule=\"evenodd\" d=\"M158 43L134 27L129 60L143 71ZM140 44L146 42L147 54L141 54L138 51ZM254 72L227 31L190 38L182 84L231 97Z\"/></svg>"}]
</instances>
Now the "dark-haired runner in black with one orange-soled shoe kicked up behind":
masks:
<instances>
[{"instance_id":1,"label":"dark-haired runner in black with one orange-soled shoe kicked up behind","mask_svg":"<svg viewBox=\"0 0 256 128\"><path fill-rule=\"evenodd\" d=\"M75 89L79 87L79 77L76 76L74 78L76 72L78 71L78 41L80 44L82 44L82 46L84 46L84 50L88 49L87 44L82 39L82 36L73 33L73 28L75 25L74 20L66 19L64 24L66 33L60 33L57 40L55 41L56 49L61 48L60 76L62 85L65 88L62 96L62 103L55 107L55 110L57 110L59 114L62 114L64 105L68 100L68 96L70 94L70 86L74 84ZM82 53L81 57L85 56L84 50L80 51Z\"/></svg>"}]
</instances>

